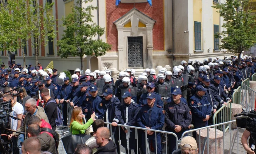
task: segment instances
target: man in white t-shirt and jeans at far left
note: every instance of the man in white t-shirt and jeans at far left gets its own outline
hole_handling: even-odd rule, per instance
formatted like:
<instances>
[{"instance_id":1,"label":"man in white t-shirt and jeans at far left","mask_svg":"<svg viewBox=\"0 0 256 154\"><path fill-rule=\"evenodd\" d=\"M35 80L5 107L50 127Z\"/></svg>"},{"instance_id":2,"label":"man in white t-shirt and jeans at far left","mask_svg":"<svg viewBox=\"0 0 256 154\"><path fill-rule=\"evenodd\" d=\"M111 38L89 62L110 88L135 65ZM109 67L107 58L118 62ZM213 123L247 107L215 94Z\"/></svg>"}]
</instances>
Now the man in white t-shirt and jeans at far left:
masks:
<instances>
[{"instance_id":1,"label":"man in white t-shirt and jeans at far left","mask_svg":"<svg viewBox=\"0 0 256 154\"><path fill-rule=\"evenodd\" d=\"M11 94L5 94L3 96L3 101L6 102L8 100L11 100L11 105L12 105L12 112L10 113L10 116L22 119L22 114L23 114L23 106L18 103L17 101L15 101L13 99L13 96ZM9 125L10 125L10 129L16 131L17 129L19 129L21 127L21 120L18 119L14 119L12 117L9 118ZM17 147L19 148L19 153L21 154L21 144L20 142L23 142L24 140L24 135L20 134L17 138L13 138L12 141L14 144L16 144L17 146L14 146L14 149Z\"/></svg>"}]
</instances>

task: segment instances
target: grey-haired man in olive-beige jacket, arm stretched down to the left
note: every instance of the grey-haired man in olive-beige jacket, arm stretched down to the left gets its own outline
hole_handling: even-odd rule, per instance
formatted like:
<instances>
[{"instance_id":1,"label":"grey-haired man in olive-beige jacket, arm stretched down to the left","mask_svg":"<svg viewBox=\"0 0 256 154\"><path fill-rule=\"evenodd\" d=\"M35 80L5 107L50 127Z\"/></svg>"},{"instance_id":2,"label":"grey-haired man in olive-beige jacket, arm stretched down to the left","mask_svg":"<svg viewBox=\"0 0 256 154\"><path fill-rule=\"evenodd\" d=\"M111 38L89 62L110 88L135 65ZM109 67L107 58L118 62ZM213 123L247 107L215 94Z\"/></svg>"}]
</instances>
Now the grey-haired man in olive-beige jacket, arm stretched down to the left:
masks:
<instances>
[{"instance_id":1,"label":"grey-haired man in olive-beige jacket, arm stretched down to the left","mask_svg":"<svg viewBox=\"0 0 256 154\"><path fill-rule=\"evenodd\" d=\"M27 121L31 116L36 116L40 119L45 120L47 123L49 123L47 115L45 114L45 110L42 107L36 106L36 100L34 98L29 98L27 100L27 102L25 103L25 110L27 111L27 113L26 113L24 122L22 123L21 127L17 129L17 131L26 132ZM14 132L8 135L8 139L11 139L13 136L17 136L17 135L19 135L19 133Z\"/></svg>"}]
</instances>

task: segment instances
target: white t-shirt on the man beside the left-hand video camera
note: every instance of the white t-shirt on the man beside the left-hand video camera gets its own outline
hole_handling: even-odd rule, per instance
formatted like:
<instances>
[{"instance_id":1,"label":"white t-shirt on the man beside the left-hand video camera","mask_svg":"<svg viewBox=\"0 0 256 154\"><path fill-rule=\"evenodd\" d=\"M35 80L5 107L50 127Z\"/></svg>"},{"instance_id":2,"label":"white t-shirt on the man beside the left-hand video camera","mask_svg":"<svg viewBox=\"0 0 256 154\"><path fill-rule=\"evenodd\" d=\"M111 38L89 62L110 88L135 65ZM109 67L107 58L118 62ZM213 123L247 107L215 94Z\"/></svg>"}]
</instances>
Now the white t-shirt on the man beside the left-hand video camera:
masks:
<instances>
[{"instance_id":1,"label":"white t-shirt on the man beside the left-hand video camera","mask_svg":"<svg viewBox=\"0 0 256 154\"><path fill-rule=\"evenodd\" d=\"M10 113L10 115L13 117L17 117L17 115L23 114L23 112L24 112L23 106L19 102L16 102L16 104L12 107L12 112ZM10 122L11 129L16 131L18 120L15 120L10 117L9 122Z\"/></svg>"}]
</instances>

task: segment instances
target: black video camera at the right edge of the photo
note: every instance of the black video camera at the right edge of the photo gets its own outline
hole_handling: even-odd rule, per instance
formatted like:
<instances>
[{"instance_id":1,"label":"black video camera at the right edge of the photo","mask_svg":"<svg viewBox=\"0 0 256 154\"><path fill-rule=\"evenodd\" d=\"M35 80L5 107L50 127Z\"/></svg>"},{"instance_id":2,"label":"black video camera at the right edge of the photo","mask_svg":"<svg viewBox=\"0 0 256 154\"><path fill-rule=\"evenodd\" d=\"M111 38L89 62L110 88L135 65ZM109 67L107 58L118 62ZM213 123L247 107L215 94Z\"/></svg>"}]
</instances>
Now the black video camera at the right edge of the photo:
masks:
<instances>
[{"instance_id":1,"label":"black video camera at the right edge of the photo","mask_svg":"<svg viewBox=\"0 0 256 154\"><path fill-rule=\"evenodd\" d=\"M246 117L238 117L238 116L246 116ZM247 128L250 130L250 137L253 140L253 145L251 146L251 150L256 153L255 149L255 141L256 141L256 111L251 111L249 113L242 112L236 114L234 117L236 118L236 125L240 128Z\"/></svg>"}]
</instances>

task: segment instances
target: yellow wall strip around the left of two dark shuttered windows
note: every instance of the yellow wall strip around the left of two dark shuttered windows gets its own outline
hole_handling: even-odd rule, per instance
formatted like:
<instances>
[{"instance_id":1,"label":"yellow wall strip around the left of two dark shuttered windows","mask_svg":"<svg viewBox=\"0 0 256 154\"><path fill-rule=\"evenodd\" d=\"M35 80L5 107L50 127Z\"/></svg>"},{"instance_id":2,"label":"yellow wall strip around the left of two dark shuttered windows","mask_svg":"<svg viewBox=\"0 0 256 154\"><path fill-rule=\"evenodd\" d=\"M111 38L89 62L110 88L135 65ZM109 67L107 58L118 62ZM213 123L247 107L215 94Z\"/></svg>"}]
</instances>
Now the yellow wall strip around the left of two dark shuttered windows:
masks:
<instances>
[{"instance_id":1,"label":"yellow wall strip around the left of two dark shuttered windows","mask_svg":"<svg viewBox=\"0 0 256 154\"><path fill-rule=\"evenodd\" d=\"M201 22L201 40L202 40L202 31L203 31L203 27L202 27L202 0L193 0L193 33L194 33L194 39L195 39L195 21L197 22ZM202 47L202 43L203 40L201 41L201 47ZM195 49L195 41L194 41L194 49ZM202 49L202 48L201 48ZM202 49L203 50L203 49Z\"/></svg>"}]
</instances>

